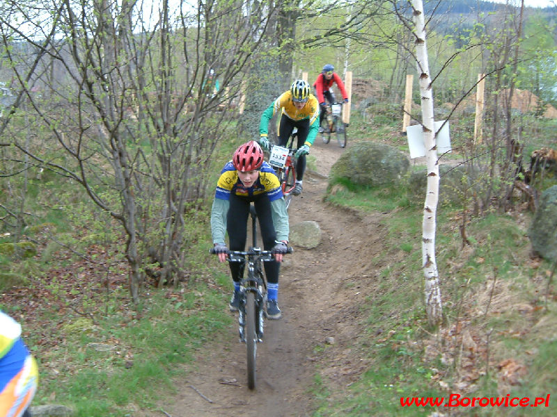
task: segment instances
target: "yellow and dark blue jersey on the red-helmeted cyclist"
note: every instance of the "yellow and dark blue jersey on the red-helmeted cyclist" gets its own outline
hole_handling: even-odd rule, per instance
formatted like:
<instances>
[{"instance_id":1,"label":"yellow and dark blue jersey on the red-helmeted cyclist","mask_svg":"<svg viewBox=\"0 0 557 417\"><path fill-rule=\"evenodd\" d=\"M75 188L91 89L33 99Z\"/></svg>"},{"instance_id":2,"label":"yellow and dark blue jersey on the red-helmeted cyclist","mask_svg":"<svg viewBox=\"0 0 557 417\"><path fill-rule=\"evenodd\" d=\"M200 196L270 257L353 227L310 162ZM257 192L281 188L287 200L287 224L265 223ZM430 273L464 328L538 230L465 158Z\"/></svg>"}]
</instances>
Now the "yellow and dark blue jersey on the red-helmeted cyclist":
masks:
<instances>
[{"instance_id":1,"label":"yellow and dark blue jersey on the red-helmeted cyclist","mask_svg":"<svg viewBox=\"0 0 557 417\"><path fill-rule=\"evenodd\" d=\"M249 188L244 187L244 184L240 181L238 172L232 161L226 163L221 171L219 181L217 181L217 191L214 197L228 201L228 199L230 199L230 193L234 193L239 197L250 197L252 195L267 193L269 201L271 202L283 197L281 183L278 181L276 173L267 161L264 161L259 169L258 180Z\"/></svg>"}]
</instances>

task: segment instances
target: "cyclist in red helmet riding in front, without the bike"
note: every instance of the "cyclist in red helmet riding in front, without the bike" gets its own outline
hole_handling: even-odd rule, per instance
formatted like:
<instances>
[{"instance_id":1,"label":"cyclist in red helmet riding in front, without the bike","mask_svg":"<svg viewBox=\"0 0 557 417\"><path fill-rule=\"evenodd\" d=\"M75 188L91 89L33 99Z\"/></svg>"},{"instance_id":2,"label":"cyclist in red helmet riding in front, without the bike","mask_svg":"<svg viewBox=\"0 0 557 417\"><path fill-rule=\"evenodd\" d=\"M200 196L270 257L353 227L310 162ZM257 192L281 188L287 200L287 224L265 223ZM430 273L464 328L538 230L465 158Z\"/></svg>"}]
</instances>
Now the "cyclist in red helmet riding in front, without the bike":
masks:
<instances>
[{"instance_id":1,"label":"cyclist in red helmet riding in front, without the bike","mask_svg":"<svg viewBox=\"0 0 557 417\"><path fill-rule=\"evenodd\" d=\"M232 161L224 165L211 210L211 232L214 252L219 261L226 261L225 234L228 232L230 250L245 250L249 206L253 202L259 219L263 248L272 250L276 261L265 262L267 277L267 317L281 318L278 308L278 272L288 245L288 212L283 199L281 184L266 161L258 142L251 140L236 149ZM234 294L230 311L238 311L240 279L243 265L230 262Z\"/></svg>"}]
</instances>

